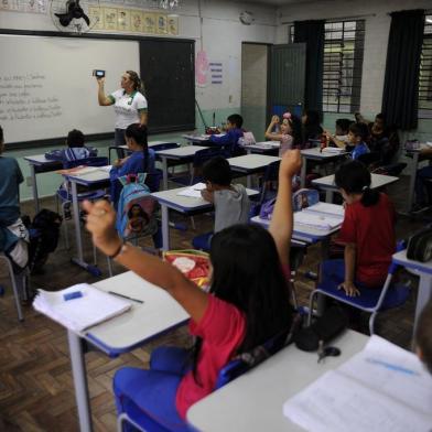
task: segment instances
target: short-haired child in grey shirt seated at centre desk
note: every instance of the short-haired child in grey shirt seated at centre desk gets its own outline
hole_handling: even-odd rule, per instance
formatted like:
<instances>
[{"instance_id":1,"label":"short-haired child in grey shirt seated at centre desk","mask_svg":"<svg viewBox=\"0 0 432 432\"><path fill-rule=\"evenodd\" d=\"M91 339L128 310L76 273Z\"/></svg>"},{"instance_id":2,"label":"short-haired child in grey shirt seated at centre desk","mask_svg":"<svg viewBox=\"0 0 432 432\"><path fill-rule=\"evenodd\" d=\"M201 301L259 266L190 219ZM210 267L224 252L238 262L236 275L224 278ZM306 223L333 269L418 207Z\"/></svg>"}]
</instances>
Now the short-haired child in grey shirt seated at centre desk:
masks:
<instances>
[{"instance_id":1,"label":"short-haired child in grey shirt seated at centre desk","mask_svg":"<svg viewBox=\"0 0 432 432\"><path fill-rule=\"evenodd\" d=\"M226 159L213 158L203 165L203 177L207 188L202 196L215 205L215 229L218 233L236 224L247 224L250 202L242 184L231 183L231 170ZM208 250L214 233L193 239L195 249Z\"/></svg>"}]
</instances>

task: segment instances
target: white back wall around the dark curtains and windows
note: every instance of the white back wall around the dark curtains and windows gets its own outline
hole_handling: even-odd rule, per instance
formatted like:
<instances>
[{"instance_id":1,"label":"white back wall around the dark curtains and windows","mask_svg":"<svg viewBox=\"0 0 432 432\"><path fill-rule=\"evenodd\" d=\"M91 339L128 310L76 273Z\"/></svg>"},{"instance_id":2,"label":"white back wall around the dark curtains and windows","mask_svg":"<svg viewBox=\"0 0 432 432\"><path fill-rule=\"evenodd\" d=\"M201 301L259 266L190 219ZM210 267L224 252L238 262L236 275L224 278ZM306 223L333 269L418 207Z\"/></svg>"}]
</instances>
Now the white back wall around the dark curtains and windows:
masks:
<instances>
[{"instance_id":1,"label":"white back wall around the dark curtains and windows","mask_svg":"<svg viewBox=\"0 0 432 432\"><path fill-rule=\"evenodd\" d=\"M381 110L387 44L391 21L388 13L404 9L428 10L428 8L432 8L430 0L321 0L290 4L278 10L277 43L288 42L289 23L294 21L357 17L364 19L366 21L366 33L360 110L366 118L374 119L375 115ZM334 121L338 117L341 115L324 115L324 127L333 130ZM418 138L432 141L432 119L419 119L418 129L403 132L401 138L403 140Z\"/></svg>"}]
</instances>

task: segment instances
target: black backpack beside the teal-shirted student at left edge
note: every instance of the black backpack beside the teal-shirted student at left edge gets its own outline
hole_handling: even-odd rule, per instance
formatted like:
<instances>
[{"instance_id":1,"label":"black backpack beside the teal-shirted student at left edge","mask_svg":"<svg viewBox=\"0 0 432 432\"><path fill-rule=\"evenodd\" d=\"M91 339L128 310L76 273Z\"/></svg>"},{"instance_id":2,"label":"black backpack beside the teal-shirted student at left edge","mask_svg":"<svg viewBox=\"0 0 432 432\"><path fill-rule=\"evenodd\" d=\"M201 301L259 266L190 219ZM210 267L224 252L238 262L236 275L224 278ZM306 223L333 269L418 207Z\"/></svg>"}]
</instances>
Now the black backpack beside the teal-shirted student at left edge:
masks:
<instances>
[{"instance_id":1,"label":"black backpack beside the teal-shirted student at left edge","mask_svg":"<svg viewBox=\"0 0 432 432\"><path fill-rule=\"evenodd\" d=\"M33 222L30 223L29 217L25 220L30 234L29 268L34 273L42 270L48 255L57 248L62 216L43 208L34 216Z\"/></svg>"}]
</instances>

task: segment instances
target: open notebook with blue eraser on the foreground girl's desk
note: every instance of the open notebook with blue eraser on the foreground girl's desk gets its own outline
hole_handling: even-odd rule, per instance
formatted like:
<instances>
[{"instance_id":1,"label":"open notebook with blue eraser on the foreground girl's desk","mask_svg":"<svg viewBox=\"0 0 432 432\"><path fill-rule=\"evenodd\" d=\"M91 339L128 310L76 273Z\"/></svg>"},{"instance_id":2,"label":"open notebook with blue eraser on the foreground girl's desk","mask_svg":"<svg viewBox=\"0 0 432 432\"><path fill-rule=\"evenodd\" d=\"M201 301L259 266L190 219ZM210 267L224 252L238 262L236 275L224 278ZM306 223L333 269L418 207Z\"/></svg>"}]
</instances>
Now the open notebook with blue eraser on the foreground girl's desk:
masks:
<instances>
[{"instance_id":1,"label":"open notebook with blue eraser on the foreground girl's desk","mask_svg":"<svg viewBox=\"0 0 432 432\"><path fill-rule=\"evenodd\" d=\"M76 333L120 315L132 306L128 300L111 295L87 283L62 291L37 290L33 307Z\"/></svg>"}]
</instances>

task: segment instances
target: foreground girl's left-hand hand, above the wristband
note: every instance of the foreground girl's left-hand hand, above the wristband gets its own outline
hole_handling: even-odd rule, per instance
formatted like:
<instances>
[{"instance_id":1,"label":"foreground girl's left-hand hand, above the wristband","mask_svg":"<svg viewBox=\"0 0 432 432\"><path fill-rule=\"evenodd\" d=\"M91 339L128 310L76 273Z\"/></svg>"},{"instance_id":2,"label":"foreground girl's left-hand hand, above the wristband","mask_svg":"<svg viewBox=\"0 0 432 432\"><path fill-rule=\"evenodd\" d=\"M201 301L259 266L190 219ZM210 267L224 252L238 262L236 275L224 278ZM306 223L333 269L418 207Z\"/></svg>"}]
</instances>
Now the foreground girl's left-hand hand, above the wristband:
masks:
<instances>
[{"instance_id":1,"label":"foreground girl's left-hand hand, above the wristband","mask_svg":"<svg viewBox=\"0 0 432 432\"><path fill-rule=\"evenodd\" d=\"M105 199L96 203L84 201L83 208L87 212L86 228L95 246L108 256L116 253L121 239L116 231L116 212L111 205Z\"/></svg>"}]
</instances>

